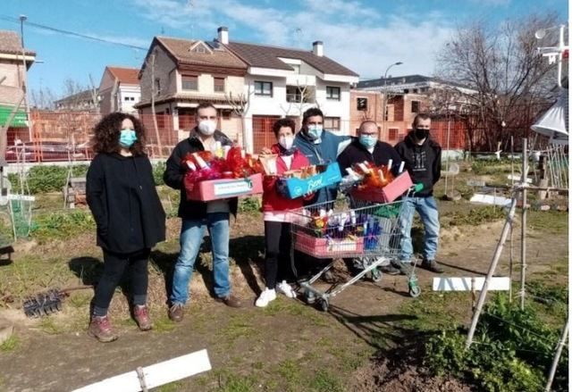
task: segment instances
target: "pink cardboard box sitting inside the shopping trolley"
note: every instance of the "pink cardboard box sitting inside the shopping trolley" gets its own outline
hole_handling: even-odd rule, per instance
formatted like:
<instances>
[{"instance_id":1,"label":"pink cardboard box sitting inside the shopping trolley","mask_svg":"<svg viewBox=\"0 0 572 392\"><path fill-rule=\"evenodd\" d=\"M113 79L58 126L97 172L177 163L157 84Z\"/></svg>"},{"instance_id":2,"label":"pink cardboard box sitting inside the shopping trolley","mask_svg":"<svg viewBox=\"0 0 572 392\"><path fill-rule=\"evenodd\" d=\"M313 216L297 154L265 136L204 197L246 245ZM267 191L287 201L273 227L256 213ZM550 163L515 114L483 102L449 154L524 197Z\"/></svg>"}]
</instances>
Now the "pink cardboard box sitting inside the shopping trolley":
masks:
<instances>
[{"instance_id":1,"label":"pink cardboard box sitting inside the shopping trolley","mask_svg":"<svg viewBox=\"0 0 572 392\"><path fill-rule=\"evenodd\" d=\"M317 238L297 232L294 235L294 248L318 258L361 254L364 251L364 238Z\"/></svg>"}]
</instances>

